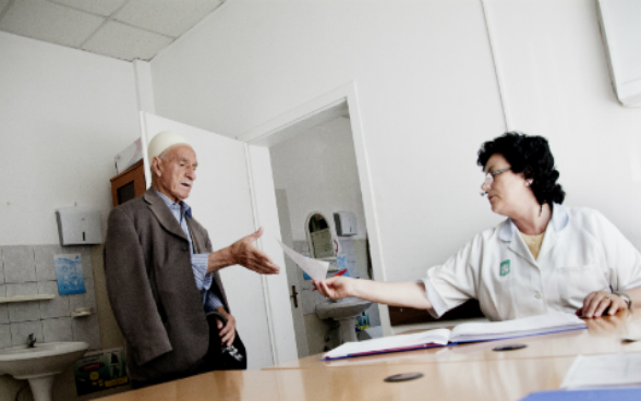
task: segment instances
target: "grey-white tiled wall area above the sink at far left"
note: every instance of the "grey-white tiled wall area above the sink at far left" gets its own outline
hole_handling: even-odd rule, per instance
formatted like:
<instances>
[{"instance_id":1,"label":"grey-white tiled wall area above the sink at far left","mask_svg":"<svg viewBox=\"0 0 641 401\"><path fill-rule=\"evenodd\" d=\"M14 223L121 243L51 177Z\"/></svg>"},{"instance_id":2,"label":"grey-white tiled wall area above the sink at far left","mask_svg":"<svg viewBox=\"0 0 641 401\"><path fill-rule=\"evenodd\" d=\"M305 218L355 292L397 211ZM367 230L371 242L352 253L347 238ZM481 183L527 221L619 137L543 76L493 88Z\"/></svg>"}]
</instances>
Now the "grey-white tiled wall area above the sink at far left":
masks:
<instances>
[{"instance_id":1,"label":"grey-white tiled wall area above the sink at far left","mask_svg":"<svg viewBox=\"0 0 641 401\"><path fill-rule=\"evenodd\" d=\"M84 294L60 295L53 255L80 254L85 278ZM20 345L34 333L39 342L85 341L100 349L100 330L94 272L88 246L0 246L0 296L55 294L50 301L0 304L0 348ZM78 307L94 314L73 318Z\"/></svg>"}]
</instances>

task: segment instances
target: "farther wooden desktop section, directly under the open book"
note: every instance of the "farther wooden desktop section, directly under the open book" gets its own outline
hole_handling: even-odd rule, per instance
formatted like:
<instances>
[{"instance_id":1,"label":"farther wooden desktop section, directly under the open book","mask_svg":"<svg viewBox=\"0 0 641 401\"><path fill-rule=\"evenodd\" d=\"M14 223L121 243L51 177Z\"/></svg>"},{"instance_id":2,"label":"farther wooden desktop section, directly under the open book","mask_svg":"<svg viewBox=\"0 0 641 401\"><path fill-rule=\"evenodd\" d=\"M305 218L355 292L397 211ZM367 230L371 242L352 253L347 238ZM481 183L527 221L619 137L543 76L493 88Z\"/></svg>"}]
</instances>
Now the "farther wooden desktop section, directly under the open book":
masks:
<instances>
[{"instance_id":1,"label":"farther wooden desktop section, directly under the open book","mask_svg":"<svg viewBox=\"0 0 641 401\"><path fill-rule=\"evenodd\" d=\"M523 360L557 356L594 355L616 352L641 352L641 341L625 343L624 336L641 336L641 309L622 311L615 316L585 319L588 329L510 340L476 342L446 348L432 348L371 356L323 361L323 354L307 356L266 369L310 369L371 365L422 365L471 361ZM495 347L524 343L527 348L508 352Z\"/></svg>"}]
</instances>

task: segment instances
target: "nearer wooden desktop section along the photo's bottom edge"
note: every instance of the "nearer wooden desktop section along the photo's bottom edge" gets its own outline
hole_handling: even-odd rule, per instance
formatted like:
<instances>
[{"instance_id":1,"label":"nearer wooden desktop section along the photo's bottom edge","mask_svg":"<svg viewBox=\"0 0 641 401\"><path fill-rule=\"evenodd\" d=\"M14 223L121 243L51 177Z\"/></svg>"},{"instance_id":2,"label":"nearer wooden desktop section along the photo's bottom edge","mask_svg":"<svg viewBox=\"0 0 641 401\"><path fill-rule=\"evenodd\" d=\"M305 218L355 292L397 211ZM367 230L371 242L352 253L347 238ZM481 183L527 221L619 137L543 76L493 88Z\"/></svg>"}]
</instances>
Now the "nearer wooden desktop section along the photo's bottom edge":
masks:
<instances>
[{"instance_id":1,"label":"nearer wooden desktop section along the photo's bottom edge","mask_svg":"<svg viewBox=\"0 0 641 401\"><path fill-rule=\"evenodd\" d=\"M465 364L377 365L338 369L215 372L112 397L105 401L516 401L556 389L575 357L475 361ZM407 372L424 377L384 378Z\"/></svg>"}]
</instances>

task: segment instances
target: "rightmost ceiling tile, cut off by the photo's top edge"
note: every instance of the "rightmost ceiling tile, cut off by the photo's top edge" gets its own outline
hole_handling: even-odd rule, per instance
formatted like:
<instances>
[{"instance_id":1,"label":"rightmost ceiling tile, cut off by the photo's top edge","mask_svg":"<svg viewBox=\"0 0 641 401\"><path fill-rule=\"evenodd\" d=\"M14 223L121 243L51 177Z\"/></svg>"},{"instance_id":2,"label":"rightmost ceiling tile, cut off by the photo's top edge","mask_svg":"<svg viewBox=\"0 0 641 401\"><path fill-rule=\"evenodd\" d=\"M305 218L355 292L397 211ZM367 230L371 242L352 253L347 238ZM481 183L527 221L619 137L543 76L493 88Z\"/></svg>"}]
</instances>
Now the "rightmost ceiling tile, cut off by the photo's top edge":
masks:
<instances>
[{"instance_id":1,"label":"rightmost ceiling tile, cut off by the photo's top edge","mask_svg":"<svg viewBox=\"0 0 641 401\"><path fill-rule=\"evenodd\" d=\"M221 3L220 0L130 0L113 17L159 34L178 37Z\"/></svg>"}]
</instances>

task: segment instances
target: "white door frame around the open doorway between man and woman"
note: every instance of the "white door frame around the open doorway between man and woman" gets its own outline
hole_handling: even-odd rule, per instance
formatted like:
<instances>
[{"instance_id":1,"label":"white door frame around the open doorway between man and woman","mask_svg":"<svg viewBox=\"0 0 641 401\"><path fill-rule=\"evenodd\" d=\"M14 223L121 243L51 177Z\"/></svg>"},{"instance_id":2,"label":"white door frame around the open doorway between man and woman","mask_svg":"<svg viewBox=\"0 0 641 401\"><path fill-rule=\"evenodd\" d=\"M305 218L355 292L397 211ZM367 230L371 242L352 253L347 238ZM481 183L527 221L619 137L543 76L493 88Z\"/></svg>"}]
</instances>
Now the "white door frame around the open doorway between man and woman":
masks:
<instances>
[{"instance_id":1,"label":"white door frame around the open doorway between man and woman","mask_svg":"<svg viewBox=\"0 0 641 401\"><path fill-rule=\"evenodd\" d=\"M359 179L361 182L361 193L363 196L363 207L365 210L365 223L367 227L367 236L370 239L370 250L374 274L373 279L385 281L385 269L383 268L385 265L383 259L383 250L380 246L379 223L376 212L376 203L374 197L374 189L372 185L372 174L370 170L370 161L367 159L365 137L363 135L361 116L358 107L356 83L354 81L344 84L311 101L307 101L290 111L287 111L283 114L261 124L259 126L249 130L243 134L238 135L237 139L245 142L250 145L268 148L269 146L285 141L291 135L287 132L288 130L286 130L288 126L291 126L298 122L313 117L314 114L334 108L337 105L343 102L347 102L349 108L354 150L356 154L356 166L359 171ZM252 155L249 155L249 162L251 162L251 157ZM254 194L253 190L252 193ZM254 200L258 202L258 199ZM255 216L256 224L261 226L261 215L256 214ZM276 293L276 289L270 290L270 283L266 277L263 278L263 282L266 296L269 297ZM276 300L273 300L271 302L269 302L269 300L266 301L268 308L270 308L273 314L282 313L277 312L276 305L279 305L279 303L275 302ZM380 312L380 324L383 326L384 336L389 336L391 335L391 327L389 324L389 313L387 306L379 304L378 308ZM287 309L289 313L289 304ZM277 319L274 319L273 316L269 317L268 321L269 325L277 324ZM274 330L274 327L271 327L271 330Z\"/></svg>"}]
</instances>

